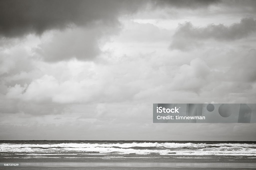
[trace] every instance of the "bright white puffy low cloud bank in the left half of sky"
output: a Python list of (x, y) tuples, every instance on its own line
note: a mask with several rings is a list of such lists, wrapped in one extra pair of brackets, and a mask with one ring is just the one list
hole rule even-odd
[(97, 94), (97, 88), (94, 86), (92, 89), (91, 83), (87, 80), (59, 82), (53, 76), (44, 75), (28, 86), (21, 87), (16, 84), (14, 87), (10, 87), (6, 97), (36, 103), (88, 102), (93, 99), (93, 95)]

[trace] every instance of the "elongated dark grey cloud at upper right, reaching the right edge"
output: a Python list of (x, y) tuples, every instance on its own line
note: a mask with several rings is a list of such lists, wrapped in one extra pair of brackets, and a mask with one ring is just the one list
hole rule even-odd
[(242, 18), (240, 23), (230, 26), (210, 24), (207, 27), (195, 27), (192, 23), (180, 24), (173, 35), (171, 49), (188, 50), (200, 46), (203, 40), (234, 41), (248, 37), (256, 31), (256, 20)]

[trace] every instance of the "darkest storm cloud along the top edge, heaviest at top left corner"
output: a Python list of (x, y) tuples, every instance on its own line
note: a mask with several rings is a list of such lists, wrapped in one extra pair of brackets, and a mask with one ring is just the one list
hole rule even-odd
[(69, 24), (86, 25), (92, 21), (118, 23), (120, 14), (131, 14), (148, 3), (153, 6), (198, 8), (217, 1), (128, 1), (128, 0), (1, 0), (0, 34), (15, 37), (29, 32), (41, 34)]

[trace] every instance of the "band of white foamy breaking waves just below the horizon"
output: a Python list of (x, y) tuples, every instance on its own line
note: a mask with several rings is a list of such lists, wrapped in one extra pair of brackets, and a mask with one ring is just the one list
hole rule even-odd
[[(60, 148), (58, 148), (60, 147)], [(119, 148), (116, 148), (119, 147)], [(132, 148), (144, 147), (144, 148)], [(147, 148), (150, 147), (150, 148)], [(154, 149), (155, 148), (155, 149)], [(162, 148), (161, 150), (157, 148)], [(60, 143), (60, 144), (10, 144), (1, 143), (0, 152), (16, 152), (19, 154), (151, 154), (160, 155), (256, 155), (256, 144), (248, 143)], [(96, 153), (90, 153), (96, 152)], [(98, 153), (97, 153), (98, 152)]]

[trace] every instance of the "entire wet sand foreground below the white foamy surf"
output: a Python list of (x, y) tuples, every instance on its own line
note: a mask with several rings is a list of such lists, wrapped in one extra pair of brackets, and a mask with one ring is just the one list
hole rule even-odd
[[(256, 169), (255, 157), (208, 156), (174, 158), (164, 156), (120, 158), (70, 158), (70, 159), (0, 159), (0, 169)], [(16, 167), (3, 166), (5, 163), (19, 163)]]

